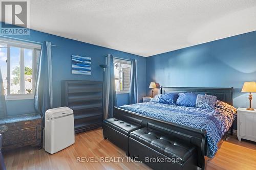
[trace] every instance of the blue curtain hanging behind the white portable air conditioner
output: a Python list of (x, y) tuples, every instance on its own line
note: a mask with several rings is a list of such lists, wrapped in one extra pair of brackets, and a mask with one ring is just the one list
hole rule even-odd
[(35, 109), (42, 115), (45, 123), (45, 112), (52, 108), (52, 57), (51, 42), (45, 41), (41, 46), (41, 54), (35, 81)]

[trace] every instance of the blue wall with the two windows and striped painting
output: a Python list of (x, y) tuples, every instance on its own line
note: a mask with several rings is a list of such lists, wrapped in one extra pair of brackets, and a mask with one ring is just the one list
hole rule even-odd
[[(80, 41), (75, 41), (47, 33), (31, 30), (30, 36), (15, 36), (31, 41), (50, 41), (57, 47), (52, 47), (53, 64), (53, 106), (60, 106), (60, 83), (62, 80), (95, 80), (103, 81), (103, 70), (99, 64), (104, 63), (104, 55), (113, 54), (115, 57), (125, 59), (137, 59), (138, 64), (138, 93), (139, 99), (145, 95), (146, 82), (146, 58), (124, 53), (110, 48), (92, 45)], [(88, 56), (92, 58), (92, 75), (71, 74), (71, 55)], [(129, 94), (118, 94), (118, 105), (128, 104)], [(34, 112), (34, 100), (7, 101), (8, 115), (24, 114)]]

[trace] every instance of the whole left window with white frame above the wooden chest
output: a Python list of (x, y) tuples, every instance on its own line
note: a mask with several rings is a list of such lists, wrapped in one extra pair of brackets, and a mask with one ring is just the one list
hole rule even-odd
[(6, 100), (33, 99), (41, 45), (0, 38), (0, 68)]

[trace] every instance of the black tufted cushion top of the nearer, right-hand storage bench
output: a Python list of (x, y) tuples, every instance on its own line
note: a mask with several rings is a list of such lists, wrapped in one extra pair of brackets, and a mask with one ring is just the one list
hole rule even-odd
[(181, 164), (196, 152), (193, 144), (149, 128), (135, 130), (129, 136), (169, 158), (178, 158)]

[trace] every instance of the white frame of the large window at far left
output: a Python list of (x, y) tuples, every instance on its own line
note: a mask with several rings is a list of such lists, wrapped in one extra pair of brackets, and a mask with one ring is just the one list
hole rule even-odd
[[(34, 90), (35, 90), (35, 81), (33, 81), (32, 87), (33, 91), (31, 94), (11, 94), (10, 93), (10, 80), (11, 80), (11, 53), (10, 53), (10, 47), (18, 47), (19, 50), (19, 67), (25, 69), (25, 63), (24, 63), (24, 48), (33, 50), (32, 51), (32, 80), (36, 79), (36, 73), (37, 73), (37, 56), (36, 52), (41, 50), (41, 45), (34, 44), (34, 43), (28, 43), (23, 41), (16, 41), (6, 38), (0, 38), (0, 43), (6, 44), (7, 46), (7, 95), (5, 95), (5, 99), (8, 100), (26, 100), (26, 99), (34, 99)], [(24, 69), (21, 69), (20, 71), (20, 93), (25, 92), (25, 75), (24, 75)]]

